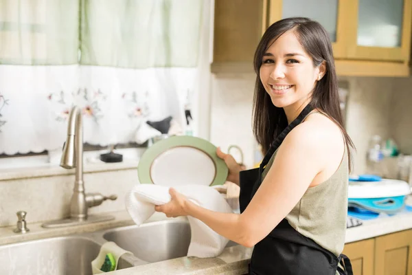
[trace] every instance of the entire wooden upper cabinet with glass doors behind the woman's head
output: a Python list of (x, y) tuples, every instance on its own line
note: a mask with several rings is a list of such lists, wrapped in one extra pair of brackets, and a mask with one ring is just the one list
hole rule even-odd
[(308, 17), (330, 35), (341, 76), (409, 76), (412, 0), (215, 0), (212, 71), (247, 71), (269, 25)]

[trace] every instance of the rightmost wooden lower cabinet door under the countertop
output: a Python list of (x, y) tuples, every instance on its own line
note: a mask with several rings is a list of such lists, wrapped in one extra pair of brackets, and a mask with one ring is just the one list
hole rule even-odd
[(376, 238), (375, 274), (412, 275), (412, 230)]

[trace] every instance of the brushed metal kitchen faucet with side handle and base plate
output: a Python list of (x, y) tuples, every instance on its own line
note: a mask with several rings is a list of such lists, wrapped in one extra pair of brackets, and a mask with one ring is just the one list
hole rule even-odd
[(48, 221), (43, 223), (43, 227), (62, 227), (69, 225), (78, 225), (80, 223), (92, 223), (97, 221), (108, 221), (114, 217), (92, 216), (87, 214), (87, 210), (93, 206), (99, 206), (106, 199), (115, 200), (116, 195), (105, 197), (100, 193), (84, 192), (83, 181), (83, 124), (82, 110), (79, 107), (73, 107), (69, 115), (69, 124), (67, 126), (67, 139), (63, 145), (62, 158), (60, 159), (62, 168), (76, 168), (76, 178), (74, 181), (73, 195), (70, 203), (70, 218), (57, 221)]

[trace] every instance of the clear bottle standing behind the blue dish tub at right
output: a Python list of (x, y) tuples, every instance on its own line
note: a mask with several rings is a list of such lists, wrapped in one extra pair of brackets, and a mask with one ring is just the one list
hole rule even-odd
[(382, 138), (379, 135), (373, 135), (369, 140), (366, 158), (366, 173), (371, 175), (383, 176), (382, 159)]

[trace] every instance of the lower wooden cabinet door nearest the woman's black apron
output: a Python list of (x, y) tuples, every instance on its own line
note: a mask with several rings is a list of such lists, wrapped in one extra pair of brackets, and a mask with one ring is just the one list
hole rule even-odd
[(374, 239), (347, 243), (343, 249), (352, 263), (354, 275), (373, 275), (374, 274)]

